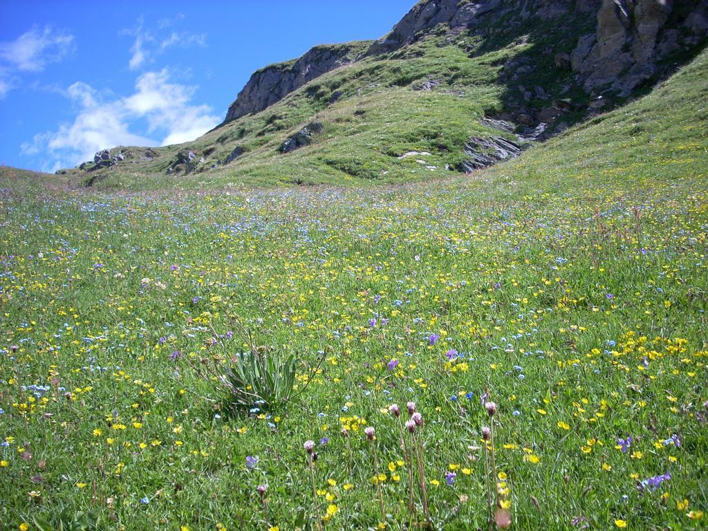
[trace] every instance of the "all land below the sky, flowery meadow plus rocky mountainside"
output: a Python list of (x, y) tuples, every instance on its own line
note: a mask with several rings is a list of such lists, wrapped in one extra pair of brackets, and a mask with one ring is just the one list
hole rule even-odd
[(0, 169), (0, 530), (707, 528), (708, 1), (401, 16)]

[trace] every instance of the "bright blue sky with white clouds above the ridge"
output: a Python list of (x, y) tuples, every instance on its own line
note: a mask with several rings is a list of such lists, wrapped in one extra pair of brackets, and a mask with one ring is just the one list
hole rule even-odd
[(256, 69), (375, 39), (415, 0), (2, 0), (0, 164), (55, 171), (117, 145), (185, 142)]

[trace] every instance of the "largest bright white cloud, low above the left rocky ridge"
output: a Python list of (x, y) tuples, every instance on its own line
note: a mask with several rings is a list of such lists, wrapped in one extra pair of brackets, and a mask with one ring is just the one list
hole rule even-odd
[[(195, 87), (170, 83), (169, 71), (147, 72), (135, 83), (135, 93), (104, 101), (91, 86), (69, 86), (67, 97), (78, 108), (71, 124), (55, 132), (35, 135), (25, 142), (23, 154), (47, 152), (52, 170), (76, 166), (93, 154), (115, 146), (156, 146), (188, 142), (215, 127), (221, 120), (208, 105), (192, 105)], [(146, 120), (149, 137), (137, 135), (136, 122)]]

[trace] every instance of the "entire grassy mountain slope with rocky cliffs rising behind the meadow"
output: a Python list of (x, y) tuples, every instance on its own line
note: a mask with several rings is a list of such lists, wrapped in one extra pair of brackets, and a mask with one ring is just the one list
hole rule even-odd
[(382, 40), (256, 72), (194, 142), (115, 148), (68, 173), (101, 188), (438, 178), (646, 93), (701, 49), (707, 6), (421, 1)]

